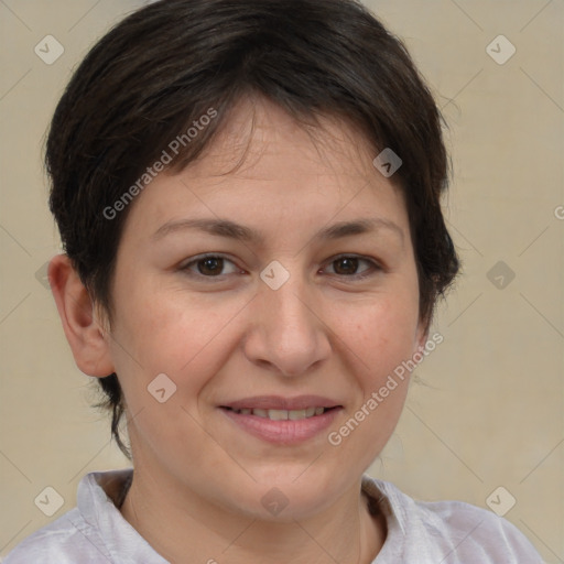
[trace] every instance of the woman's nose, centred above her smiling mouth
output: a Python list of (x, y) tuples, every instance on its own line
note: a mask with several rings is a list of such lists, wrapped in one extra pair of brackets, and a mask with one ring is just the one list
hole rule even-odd
[(278, 290), (260, 283), (243, 347), (251, 362), (295, 377), (329, 357), (330, 333), (322, 303), (306, 284), (297, 276), (290, 276)]

